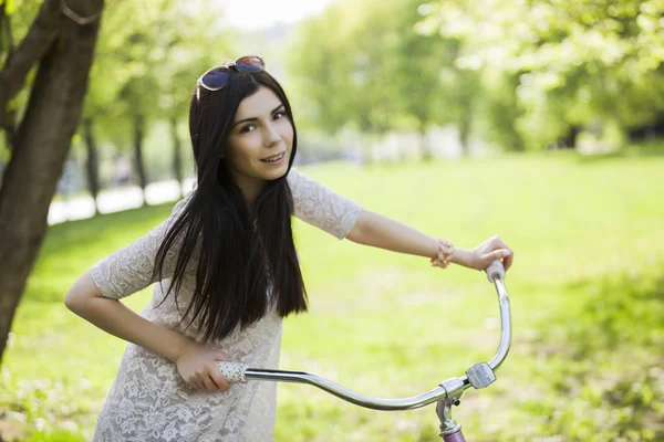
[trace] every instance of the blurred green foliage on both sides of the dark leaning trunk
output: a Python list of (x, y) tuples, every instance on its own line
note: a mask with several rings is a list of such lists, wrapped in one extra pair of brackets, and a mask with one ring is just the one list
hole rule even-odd
[[(24, 0), (6, 3), (11, 7), (11, 11), (6, 12), (11, 14), (13, 46), (25, 36), (41, 3)], [(106, 160), (118, 151), (131, 151), (136, 122), (144, 123), (145, 136), (158, 122), (169, 124), (175, 120), (181, 126), (198, 75), (231, 53), (231, 33), (219, 27), (222, 10), (214, 0), (106, 3), (82, 119), (92, 123), (102, 175)], [(0, 64), (9, 55), (6, 31), (2, 27)], [(27, 106), (34, 72), (28, 75), (23, 90), (9, 103), (12, 119), (17, 122)], [(170, 154), (173, 143), (169, 136), (157, 138), (160, 143), (152, 152), (149, 147), (145, 149), (145, 157), (148, 160), (151, 156), (159, 157), (158, 170), (151, 170), (154, 173), (148, 175), (163, 176), (162, 164), (168, 159), (164, 146), (168, 146)], [(72, 144), (72, 156), (85, 158), (80, 135), (74, 136)], [(0, 155), (9, 155), (1, 147)], [(170, 164), (167, 169), (170, 172)]]

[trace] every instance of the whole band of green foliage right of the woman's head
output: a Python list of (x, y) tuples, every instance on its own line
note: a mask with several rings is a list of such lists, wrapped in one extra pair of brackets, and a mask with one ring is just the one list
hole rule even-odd
[(300, 27), (288, 65), (308, 124), (329, 133), (453, 123), (463, 144), (474, 131), (541, 149), (590, 125), (661, 120), (662, 12), (636, 0), (340, 1)]

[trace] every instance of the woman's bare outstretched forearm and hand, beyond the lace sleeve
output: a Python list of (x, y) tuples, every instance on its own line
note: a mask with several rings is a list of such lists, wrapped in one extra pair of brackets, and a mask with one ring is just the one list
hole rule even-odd
[[(439, 256), (438, 239), (366, 209), (362, 209), (346, 239), (398, 253), (428, 259)], [(507, 270), (512, 259), (513, 252), (498, 236), (488, 239), (473, 250), (452, 246), (447, 257), (449, 262), (477, 270), (486, 269), (495, 260), (502, 260)]]

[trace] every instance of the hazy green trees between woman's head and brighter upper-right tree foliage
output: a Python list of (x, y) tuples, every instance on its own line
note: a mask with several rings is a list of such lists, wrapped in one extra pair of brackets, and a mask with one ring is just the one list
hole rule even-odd
[(445, 77), (442, 69), (452, 64), (457, 44), (418, 33), (418, 6), (341, 1), (302, 23), (288, 66), (307, 97), (310, 124), (330, 133), (350, 126), (382, 134), (466, 117), (474, 77), (454, 70), (453, 80)]

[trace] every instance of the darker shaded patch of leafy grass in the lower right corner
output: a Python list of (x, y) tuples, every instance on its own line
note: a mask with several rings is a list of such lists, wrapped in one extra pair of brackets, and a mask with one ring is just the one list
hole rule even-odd
[(584, 299), (542, 337), (556, 351), (544, 357), (541, 394), (521, 404), (539, 420), (537, 433), (664, 440), (664, 273), (614, 274), (569, 290)]

